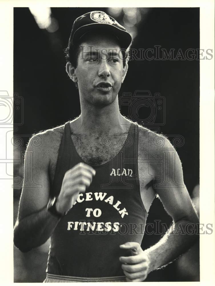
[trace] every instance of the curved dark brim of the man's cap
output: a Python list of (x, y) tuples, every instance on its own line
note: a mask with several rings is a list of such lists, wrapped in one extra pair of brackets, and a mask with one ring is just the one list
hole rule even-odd
[[(82, 26), (79, 29), (77, 29), (73, 35), (73, 43), (76, 43), (77, 41), (79, 41), (79, 39), (81, 39), (81, 37), (85, 33), (89, 31), (94, 31), (96, 29), (110, 31), (112, 35), (115, 35), (118, 38), (122, 49), (127, 49), (131, 44), (132, 37), (127, 31), (123, 31), (111, 24), (102, 24), (102, 23), (92, 23), (92, 24), (88, 24), (88, 25)], [(70, 38), (69, 42), (71, 40), (72, 39)]]

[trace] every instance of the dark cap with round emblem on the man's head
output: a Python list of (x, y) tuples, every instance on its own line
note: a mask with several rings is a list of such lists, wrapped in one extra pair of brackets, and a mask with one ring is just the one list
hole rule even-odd
[(75, 44), (83, 35), (95, 29), (109, 31), (115, 35), (123, 49), (127, 49), (131, 44), (132, 37), (126, 29), (103, 11), (92, 11), (75, 19), (69, 43)]

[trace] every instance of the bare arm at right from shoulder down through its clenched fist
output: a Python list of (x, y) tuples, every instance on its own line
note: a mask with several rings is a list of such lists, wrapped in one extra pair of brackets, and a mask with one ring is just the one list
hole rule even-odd
[[(120, 245), (120, 248), (131, 249), (133, 252), (132, 256), (120, 257), (127, 281), (144, 281), (148, 273), (172, 262), (188, 250), (198, 238), (199, 219), (184, 185), (180, 159), (170, 142), (166, 138), (163, 138), (163, 140), (165, 141), (164, 147), (167, 148), (166, 153), (169, 151), (173, 153), (174, 159), (170, 160), (169, 163), (167, 160), (165, 168), (162, 168), (162, 164), (156, 164), (156, 174), (160, 174), (160, 180), (154, 181), (157, 184), (154, 189), (167, 213), (172, 217), (174, 225), (170, 227), (156, 245), (145, 251), (135, 242)], [(158, 154), (160, 151), (157, 150), (155, 158), (156, 156), (159, 159), (162, 157)], [(170, 166), (171, 164), (173, 165)], [(159, 183), (163, 184), (158, 186)], [(189, 233), (186, 228), (188, 224), (193, 224), (193, 231), (188, 228)], [(179, 227), (181, 231), (178, 229)], [(177, 229), (178, 232), (176, 232)], [(176, 234), (173, 234), (173, 232), (176, 232)]]

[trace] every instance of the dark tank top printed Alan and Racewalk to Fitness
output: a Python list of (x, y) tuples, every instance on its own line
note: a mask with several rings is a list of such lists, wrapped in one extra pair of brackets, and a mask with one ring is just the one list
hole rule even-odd
[[(121, 136), (121, 135), (120, 135)], [(120, 249), (126, 242), (141, 244), (147, 212), (138, 178), (138, 125), (131, 123), (120, 149), (111, 147), (111, 160), (91, 165), (96, 174), (84, 194), (61, 218), (50, 237), (47, 273), (75, 277), (123, 276)], [(102, 138), (111, 146), (111, 136)], [(64, 125), (50, 196), (58, 196), (64, 174), (79, 162), (70, 122)]]

